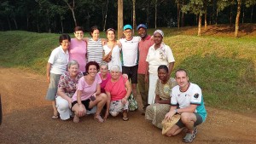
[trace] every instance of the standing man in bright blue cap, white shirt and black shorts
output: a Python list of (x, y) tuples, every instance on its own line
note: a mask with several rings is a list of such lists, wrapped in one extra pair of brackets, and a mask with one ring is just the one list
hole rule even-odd
[(119, 39), (122, 44), (122, 72), (131, 79), (132, 95), (137, 98), (138, 43), (141, 37), (133, 37), (131, 25), (124, 26), (124, 35), (124, 38)]

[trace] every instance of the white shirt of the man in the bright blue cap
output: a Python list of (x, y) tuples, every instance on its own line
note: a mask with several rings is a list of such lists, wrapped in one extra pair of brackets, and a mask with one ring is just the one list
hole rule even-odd
[(119, 42), (122, 44), (122, 66), (136, 66), (138, 64), (138, 43), (140, 40), (141, 37), (132, 37), (130, 41), (125, 38), (119, 39)]

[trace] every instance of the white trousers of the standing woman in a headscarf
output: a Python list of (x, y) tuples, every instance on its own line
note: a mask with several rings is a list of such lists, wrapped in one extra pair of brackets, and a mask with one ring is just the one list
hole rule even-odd
[(158, 79), (157, 74), (149, 73), (149, 89), (148, 89), (148, 104), (149, 105), (154, 104), (154, 99), (155, 99), (154, 91), (155, 91), (157, 79)]

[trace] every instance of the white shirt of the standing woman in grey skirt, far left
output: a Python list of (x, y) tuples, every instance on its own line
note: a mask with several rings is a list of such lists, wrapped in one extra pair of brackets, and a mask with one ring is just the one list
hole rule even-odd
[(61, 45), (55, 48), (50, 56), (48, 62), (51, 64), (50, 72), (54, 74), (63, 74), (67, 71), (67, 63), (69, 60), (68, 50), (64, 52)]

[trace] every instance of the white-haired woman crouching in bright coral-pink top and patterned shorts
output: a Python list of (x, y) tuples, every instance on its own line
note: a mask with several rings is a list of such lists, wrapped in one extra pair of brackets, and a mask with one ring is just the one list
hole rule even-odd
[(112, 66), (110, 68), (111, 79), (108, 81), (105, 90), (108, 96), (107, 111), (105, 119), (108, 118), (108, 113), (116, 117), (119, 112), (123, 113), (123, 120), (127, 121), (128, 118), (128, 105), (127, 101), (131, 95), (131, 85), (127, 78), (122, 77), (119, 66)]

